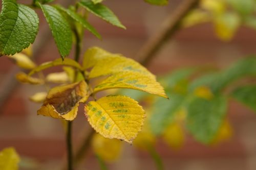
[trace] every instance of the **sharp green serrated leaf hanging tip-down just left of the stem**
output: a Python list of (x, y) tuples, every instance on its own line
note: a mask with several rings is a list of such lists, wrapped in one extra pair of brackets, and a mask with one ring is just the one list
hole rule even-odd
[(61, 57), (66, 57), (72, 47), (72, 32), (68, 21), (54, 7), (41, 4), (39, 6), (49, 23)]

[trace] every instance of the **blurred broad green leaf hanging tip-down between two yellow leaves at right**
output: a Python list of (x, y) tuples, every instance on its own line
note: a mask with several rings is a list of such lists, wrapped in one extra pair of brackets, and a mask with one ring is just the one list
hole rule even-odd
[(227, 101), (221, 95), (211, 100), (195, 97), (189, 102), (187, 112), (187, 129), (198, 141), (209, 144), (226, 116)]

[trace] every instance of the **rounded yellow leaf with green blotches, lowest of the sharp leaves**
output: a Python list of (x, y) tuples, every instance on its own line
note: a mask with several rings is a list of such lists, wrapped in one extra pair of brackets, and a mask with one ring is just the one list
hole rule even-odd
[(145, 119), (145, 111), (138, 102), (121, 95), (109, 95), (89, 102), (84, 109), (96, 132), (129, 143), (141, 131)]

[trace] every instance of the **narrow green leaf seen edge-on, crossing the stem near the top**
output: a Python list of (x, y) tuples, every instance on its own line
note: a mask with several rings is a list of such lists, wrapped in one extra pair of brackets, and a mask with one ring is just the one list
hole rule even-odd
[(97, 38), (101, 39), (100, 34), (96, 31), (96, 29), (82, 16), (74, 12), (72, 9), (65, 9), (61, 6), (56, 6), (57, 9), (66, 12), (70, 17), (72, 17), (75, 21), (79, 22), (84, 28), (90, 31)]

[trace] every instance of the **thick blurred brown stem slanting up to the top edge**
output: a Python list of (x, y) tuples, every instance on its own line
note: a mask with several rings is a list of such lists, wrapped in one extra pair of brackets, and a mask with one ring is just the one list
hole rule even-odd
[(156, 53), (159, 52), (163, 44), (169, 40), (180, 28), (182, 18), (197, 4), (199, 0), (183, 0), (174, 12), (165, 19), (159, 31), (142, 46), (136, 59), (142, 65), (148, 65)]

